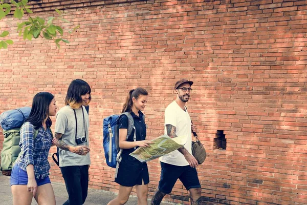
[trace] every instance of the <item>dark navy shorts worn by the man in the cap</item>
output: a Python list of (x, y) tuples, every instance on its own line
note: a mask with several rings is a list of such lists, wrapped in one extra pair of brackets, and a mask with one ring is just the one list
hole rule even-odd
[(169, 194), (179, 179), (187, 189), (201, 188), (198, 174), (195, 168), (188, 166), (176, 166), (161, 161), (161, 176), (159, 190)]

